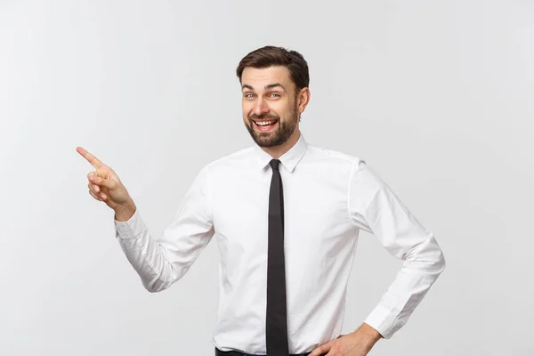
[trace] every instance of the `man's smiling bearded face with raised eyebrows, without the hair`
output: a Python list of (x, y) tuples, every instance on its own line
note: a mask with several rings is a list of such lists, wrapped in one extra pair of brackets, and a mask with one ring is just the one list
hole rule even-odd
[(241, 92), (243, 121), (258, 146), (279, 146), (298, 133), (299, 93), (286, 67), (246, 68)]

